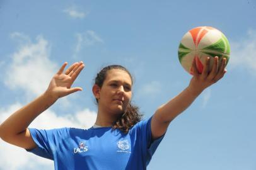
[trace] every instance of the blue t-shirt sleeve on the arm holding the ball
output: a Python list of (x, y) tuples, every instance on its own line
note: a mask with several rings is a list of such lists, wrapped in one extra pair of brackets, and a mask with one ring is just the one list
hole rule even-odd
[(139, 136), (139, 139), (141, 140), (141, 145), (143, 152), (146, 154), (146, 164), (149, 164), (149, 161), (151, 160), (151, 157), (153, 156), (154, 152), (156, 151), (158, 145), (160, 144), (161, 140), (163, 140), (163, 137), (165, 136), (165, 133), (159, 137), (158, 139), (153, 140), (152, 139), (152, 133), (151, 133), (151, 116), (150, 118), (143, 120), (139, 123), (137, 123), (134, 128), (136, 128), (136, 133)]

